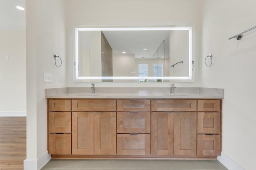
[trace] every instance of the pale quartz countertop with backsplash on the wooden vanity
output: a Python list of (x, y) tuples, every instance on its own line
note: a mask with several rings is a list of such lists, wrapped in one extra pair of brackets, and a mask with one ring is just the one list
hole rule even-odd
[(52, 88), (46, 89), (46, 98), (56, 99), (223, 99), (219, 88)]

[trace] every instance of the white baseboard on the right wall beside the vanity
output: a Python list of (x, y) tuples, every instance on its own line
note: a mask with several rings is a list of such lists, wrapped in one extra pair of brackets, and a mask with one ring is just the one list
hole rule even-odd
[(240, 166), (223, 152), (221, 152), (220, 156), (218, 156), (218, 161), (220, 161), (220, 163), (226, 166), (226, 168), (228, 168), (229, 170), (245, 170), (244, 168), (242, 168), (242, 166)]

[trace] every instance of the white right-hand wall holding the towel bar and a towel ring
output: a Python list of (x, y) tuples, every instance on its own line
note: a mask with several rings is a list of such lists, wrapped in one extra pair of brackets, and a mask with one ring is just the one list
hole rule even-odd
[[(202, 82), (224, 88), (222, 151), (246, 170), (255, 169), (256, 29), (242, 40), (228, 38), (255, 25), (255, 0), (205, 0), (202, 32)], [(206, 67), (204, 58), (213, 56)]]

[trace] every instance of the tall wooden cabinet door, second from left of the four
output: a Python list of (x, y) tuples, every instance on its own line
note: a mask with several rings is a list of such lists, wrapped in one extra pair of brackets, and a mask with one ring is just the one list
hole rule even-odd
[(116, 112), (94, 112), (94, 154), (116, 154)]

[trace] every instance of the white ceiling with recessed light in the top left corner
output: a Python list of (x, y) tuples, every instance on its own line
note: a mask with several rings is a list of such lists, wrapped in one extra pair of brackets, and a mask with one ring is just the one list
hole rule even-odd
[(16, 6), (25, 8), (26, 0), (0, 0), (0, 30), (25, 30), (26, 9), (18, 10)]

